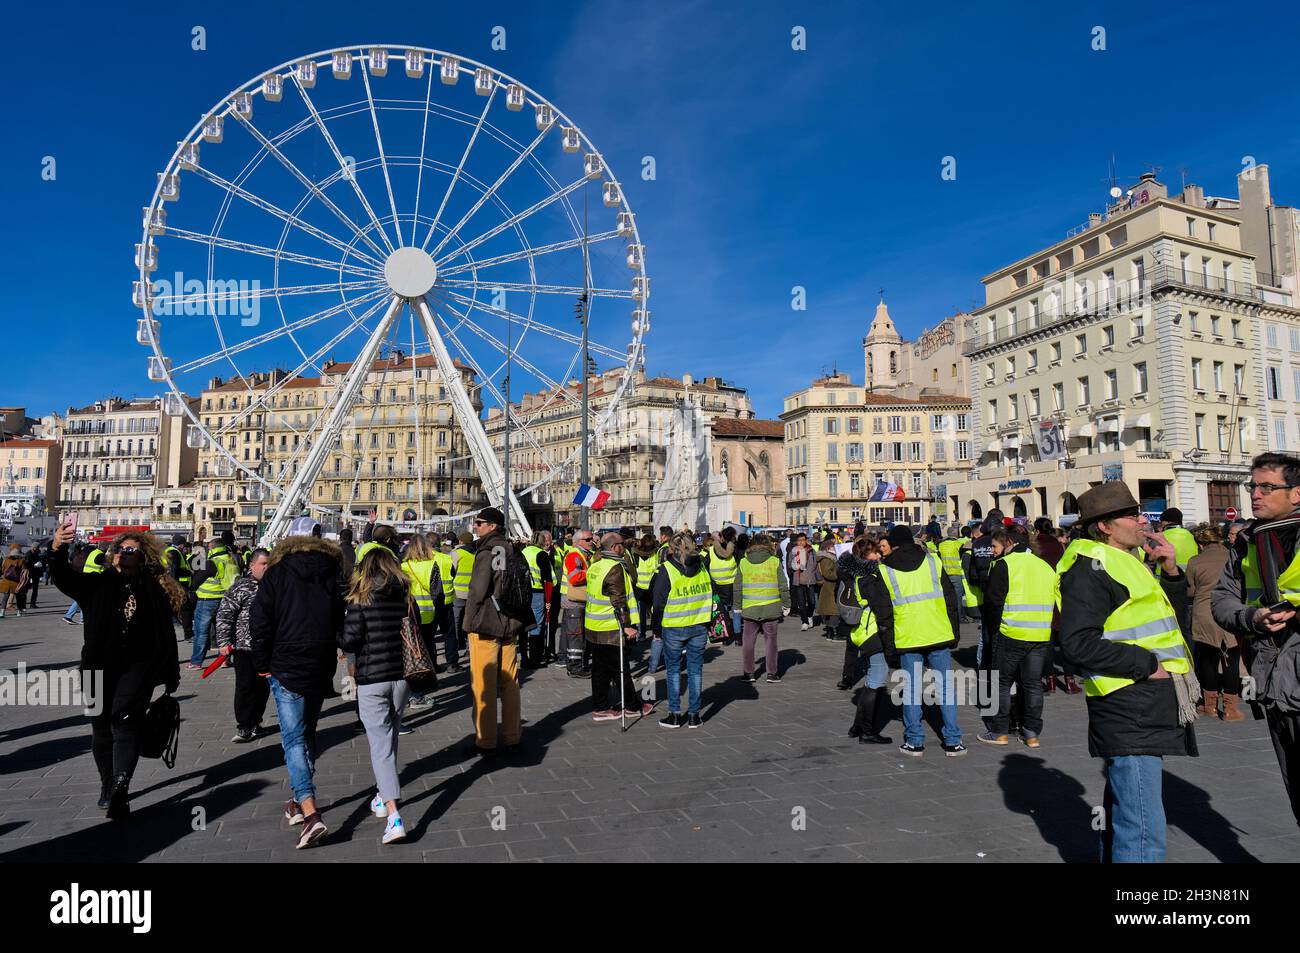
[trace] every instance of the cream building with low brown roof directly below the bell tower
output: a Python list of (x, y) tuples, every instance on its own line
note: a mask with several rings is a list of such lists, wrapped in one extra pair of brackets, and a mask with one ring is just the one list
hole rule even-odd
[[(785, 521), (946, 520), (970, 468), (970, 411), (965, 397), (883, 394), (842, 372), (788, 395)], [(887, 484), (902, 498), (871, 501)]]

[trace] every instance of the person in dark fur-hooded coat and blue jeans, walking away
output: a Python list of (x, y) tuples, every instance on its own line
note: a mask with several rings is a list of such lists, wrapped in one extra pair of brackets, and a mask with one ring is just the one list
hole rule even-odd
[(270, 677), (280, 740), (294, 797), (290, 824), (303, 824), (299, 848), (326, 833), (313, 783), (316, 723), (334, 693), (338, 637), (343, 629), (342, 553), (316, 536), (290, 536), (272, 551), (270, 566), (248, 612), (257, 672)]

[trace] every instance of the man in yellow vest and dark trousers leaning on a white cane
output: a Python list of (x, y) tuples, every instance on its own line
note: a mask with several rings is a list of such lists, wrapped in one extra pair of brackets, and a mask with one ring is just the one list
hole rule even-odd
[[(644, 718), (654, 711), (654, 703), (640, 701), (624, 651), (625, 642), (637, 637), (640, 611), (619, 533), (601, 537), (601, 555), (586, 568), (585, 590), (582, 631), (592, 646), (592, 720)], [(615, 681), (620, 683), (619, 705), (611, 705), (610, 698)]]

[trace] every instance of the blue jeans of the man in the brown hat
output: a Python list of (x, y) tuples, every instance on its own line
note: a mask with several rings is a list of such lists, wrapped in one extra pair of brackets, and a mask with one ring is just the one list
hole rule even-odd
[[(1158, 754), (1106, 758), (1106, 829), (1102, 863), (1164, 863), (1164, 759)], [(1109, 854), (1109, 855), (1108, 855)]]

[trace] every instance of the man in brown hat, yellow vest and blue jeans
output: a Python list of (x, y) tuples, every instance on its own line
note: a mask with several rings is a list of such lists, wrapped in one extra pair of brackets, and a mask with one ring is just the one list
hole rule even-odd
[[(1106, 776), (1104, 862), (1165, 859), (1162, 757), (1196, 754), (1197, 692), (1186, 618), (1187, 577), (1174, 547), (1148, 530), (1128, 486), (1110, 481), (1079, 497), (1083, 536), (1057, 563), (1061, 651), (1083, 672), (1088, 753)], [(1132, 551), (1160, 566), (1152, 577)]]

